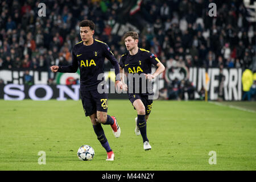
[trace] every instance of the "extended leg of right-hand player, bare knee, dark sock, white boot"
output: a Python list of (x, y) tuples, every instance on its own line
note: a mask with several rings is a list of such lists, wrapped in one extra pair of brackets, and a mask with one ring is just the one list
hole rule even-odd
[[(133, 102), (133, 106), (137, 110), (137, 127), (139, 127), (139, 131), (141, 132), (142, 139), (143, 139), (143, 148), (144, 150), (151, 150), (151, 146), (147, 139), (147, 123), (146, 123), (146, 113), (145, 113), (145, 107), (143, 105), (143, 102), (140, 99), (137, 99)], [(147, 117), (148, 118), (148, 117)]]

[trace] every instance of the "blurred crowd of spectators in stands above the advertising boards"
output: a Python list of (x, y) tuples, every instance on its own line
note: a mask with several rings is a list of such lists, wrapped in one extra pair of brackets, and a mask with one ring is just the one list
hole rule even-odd
[[(216, 17), (208, 15), (211, 2), (217, 4)], [(46, 4), (45, 17), (38, 16), (39, 3)], [(70, 64), (72, 46), (80, 42), (78, 23), (84, 19), (96, 23), (96, 38), (108, 43), (118, 60), (125, 52), (121, 36), (112, 34), (122, 0), (0, 0), (0, 4), (0, 69), (49, 72), (50, 65)], [(144, 0), (136, 14), (146, 22), (139, 47), (157, 55), (166, 68), (256, 71), (256, 28), (246, 20), (243, 1)], [(182, 89), (184, 83), (172, 85)]]

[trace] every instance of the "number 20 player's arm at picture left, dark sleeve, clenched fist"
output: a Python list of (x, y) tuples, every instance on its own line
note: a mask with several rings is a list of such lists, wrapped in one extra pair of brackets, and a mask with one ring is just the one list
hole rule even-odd
[(78, 68), (78, 62), (76, 59), (75, 53), (72, 51), (72, 64), (68, 66), (58, 66), (58, 65), (53, 65), (51, 66), (51, 71), (56, 73), (56, 72), (61, 72), (61, 73), (76, 73), (77, 68)]

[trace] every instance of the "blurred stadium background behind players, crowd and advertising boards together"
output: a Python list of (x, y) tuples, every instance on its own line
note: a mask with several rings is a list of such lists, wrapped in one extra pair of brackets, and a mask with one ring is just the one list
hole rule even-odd
[[(209, 15), (210, 3), (216, 4), (216, 16)], [(123, 33), (139, 32), (139, 47), (166, 66), (155, 83), (159, 99), (205, 100), (208, 93), (207, 100), (255, 101), (255, 1), (0, 0), (0, 4), (2, 99), (77, 100), (79, 71), (53, 74), (49, 67), (71, 64), (72, 46), (81, 41), (78, 23), (90, 19), (96, 23), (95, 38), (108, 43), (118, 60), (126, 52)], [(112, 78), (110, 68), (105, 60), (106, 76)], [(75, 91), (67, 94), (56, 85)]]

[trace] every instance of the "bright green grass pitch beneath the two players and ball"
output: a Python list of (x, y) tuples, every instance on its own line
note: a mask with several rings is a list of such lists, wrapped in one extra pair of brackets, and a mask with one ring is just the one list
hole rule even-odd
[[(115, 154), (114, 162), (107, 162), (81, 101), (0, 100), (0, 170), (255, 170), (256, 105), (247, 106), (254, 111), (204, 101), (154, 101), (147, 123), (152, 150), (144, 151), (130, 101), (109, 100), (108, 114), (117, 117), (121, 137), (103, 126)], [(77, 158), (83, 144), (94, 148), (90, 162)], [(38, 164), (39, 151), (46, 152), (46, 164)], [(217, 164), (209, 164), (210, 151)]]

